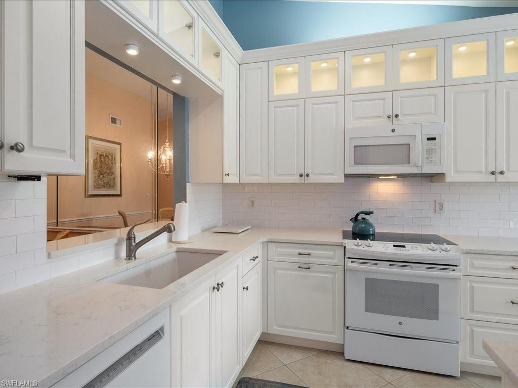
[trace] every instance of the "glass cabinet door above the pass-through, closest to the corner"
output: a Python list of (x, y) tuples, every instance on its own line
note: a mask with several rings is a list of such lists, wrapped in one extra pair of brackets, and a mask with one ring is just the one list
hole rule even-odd
[(221, 86), (222, 45), (201, 19), (199, 24), (199, 68)]

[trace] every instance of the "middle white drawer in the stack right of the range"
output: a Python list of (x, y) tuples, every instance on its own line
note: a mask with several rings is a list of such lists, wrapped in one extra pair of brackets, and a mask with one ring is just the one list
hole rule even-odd
[(518, 324), (518, 280), (463, 276), (462, 318)]

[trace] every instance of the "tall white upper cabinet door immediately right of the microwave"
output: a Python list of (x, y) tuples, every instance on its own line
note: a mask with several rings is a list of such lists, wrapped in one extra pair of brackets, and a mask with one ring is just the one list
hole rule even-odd
[(446, 182), (495, 182), (495, 84), (445, 88)]

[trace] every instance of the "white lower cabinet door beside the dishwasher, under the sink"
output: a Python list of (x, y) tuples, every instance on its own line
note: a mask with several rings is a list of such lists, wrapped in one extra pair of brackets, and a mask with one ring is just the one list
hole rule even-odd
[(173, 387), (216, 386), (216, 325), (211, 277), (171, 306)]

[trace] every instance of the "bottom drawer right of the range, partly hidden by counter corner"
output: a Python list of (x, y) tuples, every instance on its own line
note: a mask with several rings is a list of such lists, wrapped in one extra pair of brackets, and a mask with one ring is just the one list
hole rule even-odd
[(461, 362), (496, 366), (482, 349), (482, 340), (518, 342), (518, 326), (462, 320)]

